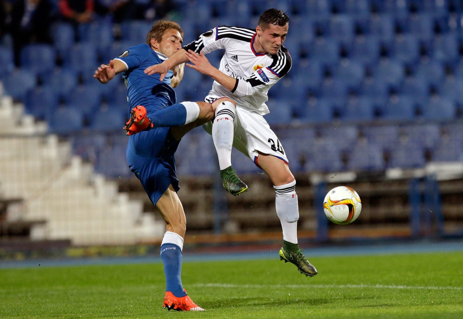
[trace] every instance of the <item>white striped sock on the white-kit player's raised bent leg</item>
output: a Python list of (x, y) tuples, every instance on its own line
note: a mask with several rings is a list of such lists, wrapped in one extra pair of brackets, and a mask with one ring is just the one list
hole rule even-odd
[(220, 169), (232, 165), (233, 121), (235, 120), (235, 106), (232, 102), (222, 102), (215, 110), (212, 124), (212, 139), (219, 157)]

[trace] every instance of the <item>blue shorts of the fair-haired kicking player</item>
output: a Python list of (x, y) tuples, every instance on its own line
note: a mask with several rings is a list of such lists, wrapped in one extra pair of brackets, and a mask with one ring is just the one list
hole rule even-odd
[(175, 151), (179, 142), (172, 136), (169, 127), (141, 131), (129, 137), (127, 163), (153, 205), (170, 184), (175, 192), (180, 189), (175, 169)]

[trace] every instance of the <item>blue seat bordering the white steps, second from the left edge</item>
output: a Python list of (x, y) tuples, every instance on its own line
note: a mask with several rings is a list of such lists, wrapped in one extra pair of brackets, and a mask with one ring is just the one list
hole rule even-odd
[(25, 110), (38, 119), (45, 119), (58, 106), (58, 97), (47, 87), (36, 87), (29, 91), (25, 101)]

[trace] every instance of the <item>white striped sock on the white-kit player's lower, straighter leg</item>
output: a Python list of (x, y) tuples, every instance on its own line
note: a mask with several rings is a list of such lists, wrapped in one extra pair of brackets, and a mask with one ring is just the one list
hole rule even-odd
[(283, 240), (297, 244), (297, 220), (299, 206), (296, 195), (296, 181), (289, 184), (274, 186), (276, 214), (282, 223)]

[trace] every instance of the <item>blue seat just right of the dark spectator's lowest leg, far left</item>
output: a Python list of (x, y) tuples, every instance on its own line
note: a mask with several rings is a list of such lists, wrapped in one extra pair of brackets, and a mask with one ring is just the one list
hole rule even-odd
[(55, 68), (56, 52), (48, 44), (28, 44), (21, 50), (21, 66), (46, 76)]

